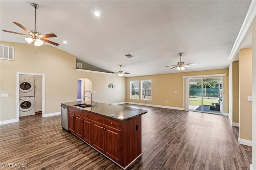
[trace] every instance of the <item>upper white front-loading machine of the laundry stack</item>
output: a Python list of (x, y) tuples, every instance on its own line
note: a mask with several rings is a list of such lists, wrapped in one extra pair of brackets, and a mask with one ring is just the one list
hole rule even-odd
[(34, 75), (20, 75), (20, 96), (35, 96)]

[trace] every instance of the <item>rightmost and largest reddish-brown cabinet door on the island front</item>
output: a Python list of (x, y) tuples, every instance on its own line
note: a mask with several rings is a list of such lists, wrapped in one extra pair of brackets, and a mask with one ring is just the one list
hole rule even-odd
[(105, 126), (105, 154), (117, 163), (121, 160), (121, 130)]

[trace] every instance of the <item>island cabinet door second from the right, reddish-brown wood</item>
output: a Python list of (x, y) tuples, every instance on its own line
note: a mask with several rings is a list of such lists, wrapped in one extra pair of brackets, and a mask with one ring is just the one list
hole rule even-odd
[[(92, 146), (98, 149), (100, 152), (104, 151), (104, 125), (95, 121), (92, 121)], [(103, 152), (104, 153), (104, 152)]]

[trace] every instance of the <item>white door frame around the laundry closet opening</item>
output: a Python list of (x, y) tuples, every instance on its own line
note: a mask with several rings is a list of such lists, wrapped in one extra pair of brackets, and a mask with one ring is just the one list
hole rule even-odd
[(20, 121), (20, 102), (19, 102), (19, 97), (20, 97), (20, 75), (40, 75), (42, 76), (42, 117), (44, 117), (45, 114), (45, 75), (44, 74), (37, 74), (37, 73), (21, 73), (21, 72), (17, 72), (16, 73), (16, 120), (17, 122)]

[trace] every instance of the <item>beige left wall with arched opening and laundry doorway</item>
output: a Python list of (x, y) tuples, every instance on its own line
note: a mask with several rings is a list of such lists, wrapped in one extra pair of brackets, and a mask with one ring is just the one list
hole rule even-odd
[[(49, 45), (1, 42), (15, 48), (15, 61), (0, 60), (0, 121), (16, 119), (16, 74), (45, 75), (45, 114), (60, 112), (60, 103), (76, 101), (77, 80), (92, 81), (93, 100), (104, 103), (125, 101), (125, 77), (76, 71), (76, 57)], [(109, 89), (108, 84), (115, 88)], [(105, 102), (106, 100), (106, 102)]]

